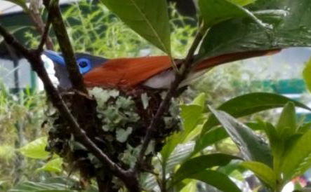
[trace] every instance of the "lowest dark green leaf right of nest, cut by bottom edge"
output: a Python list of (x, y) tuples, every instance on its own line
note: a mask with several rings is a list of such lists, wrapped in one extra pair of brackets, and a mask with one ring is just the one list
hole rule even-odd
[(206, 184), (218, 188), (224, 192), (241, 192), (241, 190), (234, 184), (227, 175), (214, 170), (204, 170), (197, 174), (192, 174), (190, 179), (197, 179)]

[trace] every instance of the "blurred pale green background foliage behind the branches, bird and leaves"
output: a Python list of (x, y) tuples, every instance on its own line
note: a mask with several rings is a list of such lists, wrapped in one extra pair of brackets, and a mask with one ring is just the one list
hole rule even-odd
[[(193, 36), (197, 32), (196, 20), (180, 15), (173, 4), (170, 6), (170, 16), (172, 54), (176, 58), (185, 57), (193, 41)], [(73, 6), (67, 8), (63, 12), (63, 17), (67, 25), (67, 32), (71, 37), (72, 46), (78, 53), (86, 52), (108, 58), (164, 54), (138, 34), (135, 34), (102, 4), (94, 5), (90, 1), (79, 1), (79, 3), (74, 3)], [(25, 37), (28, 39), (27, 44), (29, 46), (38, 45), (39, 36), (32, 32), (25, 32)], [(53, 39), (53, 43), (55, 50), (59, 50), (56, 39)], [(267, 66), (268, 64), (263, 63), (262, 65)], [(262, 69), (265, 70), (265, 67)], [(271, 88), (263, 84), (254, 84), (250, 81), (258, 74), (258, 71), (249, 71), (241, 67), (240, 62), (227, 64), (225, 67), (216, 67), (203, 78), (200, 78), (199, 81), (194, 81), (181, 97), (180, 103), (191, 102), (200, 92), (205, 93), (204, 97), (206, 97), (207, 103), (213, 107), (218, 107), (230, 98), (248, 92), (273, 92)], [(264, 74), (264, 71), (261, 71), (260, 74)], [(246, 81), (241, 81), (242, 79), (246, 79)], [(46, 135), (47, 129), (44, 127), (49, 125), (44, 123), (44, 116), (46, 115), (44, 92), (26, 89), (12, 94), (3, 84), (1, 84), (0, 91), (0, 191), (8, 191), (9, 188), (21, 181), (48, 181), (51, 184), (53, 182), (48, 180), (51, 177), (63, 176), (64, 174), (67, 177), (70, 173), (65, 171), (37, 171), (34, 173), (34, 170), (45, 165), (46, 158), (25, 158), (18, 150), (25, 144)], [(278, 115), (271, 111), (265, 111), (242, 120), (252, 121), (263, 118), (275, 122)], [(206, 150), (230, 154), (238, 153), (237, 146), (231, 139), (216, 142)], [(234, 167), (234, 163), (230, 166)], [(241, 172), (234, 170), (236, 166), (234, 168), (230, 166), (223, 168), (223, 170), (220, 168), (220, 171), (230, 174), (238, 182), (243, 176)], [(70, 176), (70, 179), (72, 182), (78, 181), (74, 174)], [(66, 184), (61, 179), (58, 180), (58, 184), (60, 183)], [(196, 186), (197, 182), (190, 182), (183, 188), (183, 191), (187, 191), (187, 187)], [(211, 191), (215, 189), (211, 189), (211, 186), (202, 183), (198, 190)]]

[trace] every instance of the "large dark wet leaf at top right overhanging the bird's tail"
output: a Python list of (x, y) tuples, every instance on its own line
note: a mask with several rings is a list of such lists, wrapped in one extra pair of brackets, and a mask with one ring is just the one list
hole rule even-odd
[(199, 50), (201, 59), (225, 53), (311, 46), (310, 0), (258, 0), (248, 8), (273, 27), (269, 35), (249, 18), (221, 22), (205, 36)]

